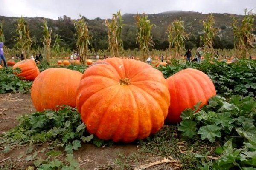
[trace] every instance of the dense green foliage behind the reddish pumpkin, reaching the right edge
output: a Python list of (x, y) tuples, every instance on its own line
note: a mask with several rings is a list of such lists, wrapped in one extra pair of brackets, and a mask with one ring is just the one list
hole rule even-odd
[(256, 96), (256, 61), (238, 60), (234, 63), (226, 62), (210, 63), (204, 61), (201, 64), (189, 65), (177, 64), (174, 66), (158, 67), (165, 78), (185, 68), (195, 68), (207, 74), (215, 85), (217, 93), (221, 96), (239, 94), (242, 96)]

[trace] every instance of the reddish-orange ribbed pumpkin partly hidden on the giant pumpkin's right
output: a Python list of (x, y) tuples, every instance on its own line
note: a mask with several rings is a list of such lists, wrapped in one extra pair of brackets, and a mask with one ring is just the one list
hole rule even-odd
[(186, 108), (194, 108), (198, 102), (200, 107), (208, 103), (210, 97), (216, 95), (212, 80), (202, 71), (187, 68), (166, 79), (171, 95), (167, 123), (179, 123), (180, 114)]

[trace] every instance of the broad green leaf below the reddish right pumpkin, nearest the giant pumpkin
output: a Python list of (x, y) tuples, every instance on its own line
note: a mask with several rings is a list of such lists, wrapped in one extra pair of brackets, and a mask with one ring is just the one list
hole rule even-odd
[(182, 136), (192, 138), (196, 135), (196, 123), (192, 120), (183, 120), (180, 122), (178, 130), (182, 132)]

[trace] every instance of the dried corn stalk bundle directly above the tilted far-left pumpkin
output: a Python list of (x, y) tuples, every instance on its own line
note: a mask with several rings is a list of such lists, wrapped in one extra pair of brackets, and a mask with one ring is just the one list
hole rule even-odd
[(17, 42), (16, 46), (24, 54), (24, 59), (27, 59), (30, 53), (30, 48), (32, 45), (32, 40), (30, 38), (29, 26), (26, 20), (21, 16), (18, 19), (18, 24), (16, 28), (16, 33), (18, 36), (14, 36), (14, 40)]

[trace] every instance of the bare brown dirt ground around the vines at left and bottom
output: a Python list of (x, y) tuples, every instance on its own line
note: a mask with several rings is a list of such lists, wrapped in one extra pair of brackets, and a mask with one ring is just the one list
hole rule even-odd
[[(30, 94), (0, 94), (0, 134), (5, 133), (15, 127), (17, 117), (35, 112)], [(0, 141), (1, 142), (1, 141)], [(0, 146), (1, 147), (1, 146)], [(15, 165), (13, 170), (23, 170), (33, 165), (33, 161), (26, 161), (26, 149), (28, 146), (20, 146), (12, 149), (9, 153), (3, 154), (0, 150), (0, 162), (6, 158), (6, 161), (0, 163), (0, 169), (4, 164)], [(38, 156), (47, 158), (40, 150), (47, 148), (47, 143), (35, 146)], [(59, 148), (63, 151), (63, 148)], [(23, 156), (22, 156), (23, 155)], [(83, 144), (74, 156), (80, 164), (82, 170), (126, 170), (134, 169), (137, 166), (163, 160), (160, 156), (152, 156), (137, 151), (137, 144), (113, 144), (111, 147), (96, 147), (93, 144)], [(21, 157), (21, 158), (20, 158)], [(64, 160), (61, 155), (58, 159)], [(7, 169), (7, 170), (11, 170)], [(171, 170), (168, 164), (161, 164), (149, 168), (150, 170)], [(6, 170), (6, 169), (5, 169)]]

